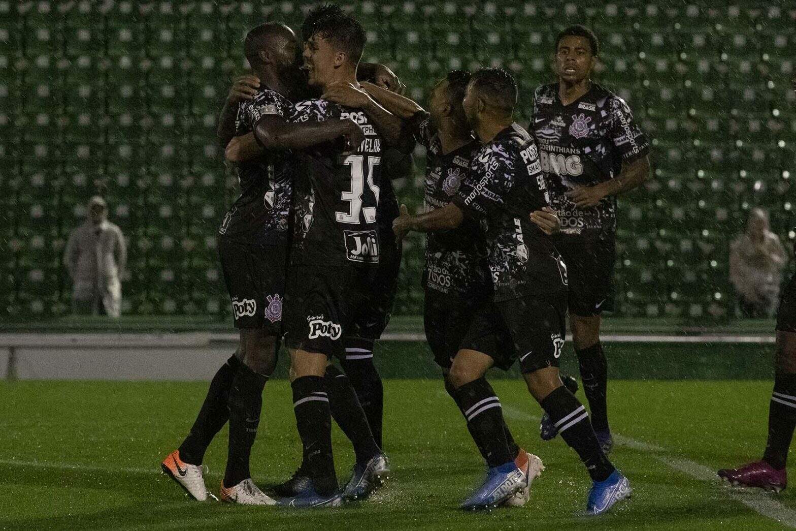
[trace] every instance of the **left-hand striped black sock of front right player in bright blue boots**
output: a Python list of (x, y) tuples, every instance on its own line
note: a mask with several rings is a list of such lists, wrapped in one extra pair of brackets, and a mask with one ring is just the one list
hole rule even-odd
[(456, 403), (470, 428), (476, 446), (490, 468), (513, 461), (517, 454), (509, 450), (500, 399), (484, 378), (456, 389)]

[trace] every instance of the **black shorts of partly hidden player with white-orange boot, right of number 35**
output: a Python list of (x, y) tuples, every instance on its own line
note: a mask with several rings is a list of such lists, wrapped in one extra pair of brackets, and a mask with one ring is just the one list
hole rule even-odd
[(451, 368), (462, 340), (470, 330), (478, 305), (486, 297), (466, 297), (459, 293), (439, 293), (426, 289), (423, 304), (423, 326), (434, 362), (443, 369)]

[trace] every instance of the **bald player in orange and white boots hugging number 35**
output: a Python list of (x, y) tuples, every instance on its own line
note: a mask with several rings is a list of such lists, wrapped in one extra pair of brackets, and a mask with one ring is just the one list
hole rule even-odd
[[(249, 456), (256, 438), (263, 387), (276, 364), (282, 334), (282, 306), (287, 266), (288, 215), (295, 159), (287, 148), (310, 140), (361, 139), (351, 120), (328, 124), (290, 124), (295, 89), (297, 42), (287, 26), (267, 23), (251, 30), (244, 52), (259, 90), (238, 81), (228, 106), (237, 106), (236, 134), (260, 128), (269, 132), (265, 150), (237, 167), (241, 194), (219, 229), (219, 254), (240, 344), (210, 383), (201, 411), (178, 450), (162, 470), (193, 498), (211, 497), (202, 476), (205, 450), (229, 421), (227, 467), (221, 499), (246, 505), (273, 505), (252, 482)], [(248, 96), (248, 99), (246, 99)], [(220, 127), (220, 134), (224, 128)]]

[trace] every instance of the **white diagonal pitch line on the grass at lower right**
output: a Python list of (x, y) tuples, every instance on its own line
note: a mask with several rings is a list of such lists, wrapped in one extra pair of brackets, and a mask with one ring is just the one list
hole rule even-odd
[[(503, 411), (505, 415), (511, 419), (535, 422), (540, 420), (540, 418), (536, 415), (530, 415), (529, 413), (526, 413), (517, 407), (506, 404), (503, 404)], [(662, 462), (673, 470), (677, 470), (678, 472), (691, 476), (694, 479), (698, 479), (701, 482), (710, 482), (714, 484), (720, 483), (720, 479), (716, 475), (716, 470), (712, 470), (708, 466), (701, 465), (700, 463), (693, 462), (689, 459), (673, 458), (667, 455), (660, 455), (666, 451), (666, 449), (662, 446), (644, 443), (642, 441), (630, 439), (630, 437), (617, 435), (613, 432), (611, 432), (611, 435), (613, 435), (615, 443), (633, 448), (634, 450), (650, 452), (650, 454), (652, 454), (657, 461)], [(765, 493), (763, 491), (741, 489), (721, 489), (721, 491), (728, 494), (728, 496), (733, 500), (743, 503), (743, 505), (746, 505), (749, 509), (755, 511), (755, 513), (778, 521), (782, 525), (787, 525), (790, 528), (796, 529), (796, 510), (789, 509), (785, 505), (782, 505), (782, 503), (779, 501), (771, 498), (771, 494)]]

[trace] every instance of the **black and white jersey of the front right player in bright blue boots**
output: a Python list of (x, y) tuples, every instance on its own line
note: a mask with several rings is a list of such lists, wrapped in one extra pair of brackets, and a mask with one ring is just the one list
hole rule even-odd
[(567, 268), (529, 218), (550, 203), (537, 146), (519, 124), (478, 150), (453, 201), (467, 217), (486, 219), (495, 301), (564, 293)]

